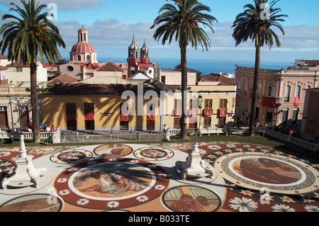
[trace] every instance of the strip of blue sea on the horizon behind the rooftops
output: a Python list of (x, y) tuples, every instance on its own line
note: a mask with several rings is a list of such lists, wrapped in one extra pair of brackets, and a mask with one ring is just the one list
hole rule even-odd
[[(100, 62), (108, 62), (109, 60), (121, 63), (126, 62), (126, 59), (120, 57), (108, 58), (108, 57), (99, 57)], [(151, 59), (151, 62), (159, 62), (159, 68), (162, 69), (172, 69), (177, 64), (180, 64), (178, 58), (167, 59), (167, 58), (158, 58)], [(188, 59), (187, 67), (189, 69), (195, 69), (196, 71), (202, 72), (203, 75), (208, 75), (211, 73), (227, 73), (235, 74), (236, 64), (241, 67), (254, 67), (254, 61), (247, 60), (198, 60), (198, 59)], [(265, 69), (286, 69), (291, 66), (292, 62), (267, 62), (261, 61), (260, 68)]]

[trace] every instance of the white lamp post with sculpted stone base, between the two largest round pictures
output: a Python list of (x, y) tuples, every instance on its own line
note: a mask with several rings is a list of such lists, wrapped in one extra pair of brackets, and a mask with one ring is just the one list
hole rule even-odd
[[(199, 96), (197, 96), (198, 102)], [(209, 178), (209, 179), (216, 179), (218, 174), (216, 173), (213, 166), (205, 162), (202, 157), (202, 153), (199, 152), (198, 149), (198, 128), (197, 128), (197, 119), (198, 119), (198, 104), (196, 104), (196, 128), (194, 132), (194, 143), (193, 148), (189, 150), (189, 155), (186, 158), (186, 162), (176, 162), (175, 169), (179, 174), (181, 174), (181, 178), (186, 180), (187, 178), (190, 179), (202, 179), (202, 178)]]

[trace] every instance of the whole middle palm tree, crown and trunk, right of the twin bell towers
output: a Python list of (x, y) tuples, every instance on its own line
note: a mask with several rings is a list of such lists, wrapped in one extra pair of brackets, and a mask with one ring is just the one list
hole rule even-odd
[[(183, 111), (181, 113), (181, 137), (187, 137), (186, 130), (186, 101), (184, 94), (187, 90), (187, 61), (186, 47), (191, 43), (192, 47), (197, 49), (198, 45), (204, 50), (208, 50), (211, 41), (203, 28), (210, 28), (213, 31), (213, 21), (217, 21), (215, 17), (203, 13), (202, 11), (211, 12), (208, 6), (201, 4), (196, 0), (174, 0), (174, 5), (165, 4), (159, 9), (159, 16), (155, 18), (152, 28), (157, 27), (153, 38), (159, 40), (162, 38), (162, 45), (167, 41), (169, 44), (173, 38), (179, 43), (181, 50), (181, 104)], [(203, 26), (200, 27), (200, 26)], [(213, 31), (214, 32), (214, 31)]]

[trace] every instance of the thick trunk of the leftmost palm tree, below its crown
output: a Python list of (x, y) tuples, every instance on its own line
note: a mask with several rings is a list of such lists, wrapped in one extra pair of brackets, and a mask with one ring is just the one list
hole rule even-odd
[(37, 64), (30, 63), (31, 76), (31, 106), (32, 106), (32, 123), (33, 123), (33, 142), (40, 142), (39, 131), (39, 113), (38, 113), (38, 79)]

